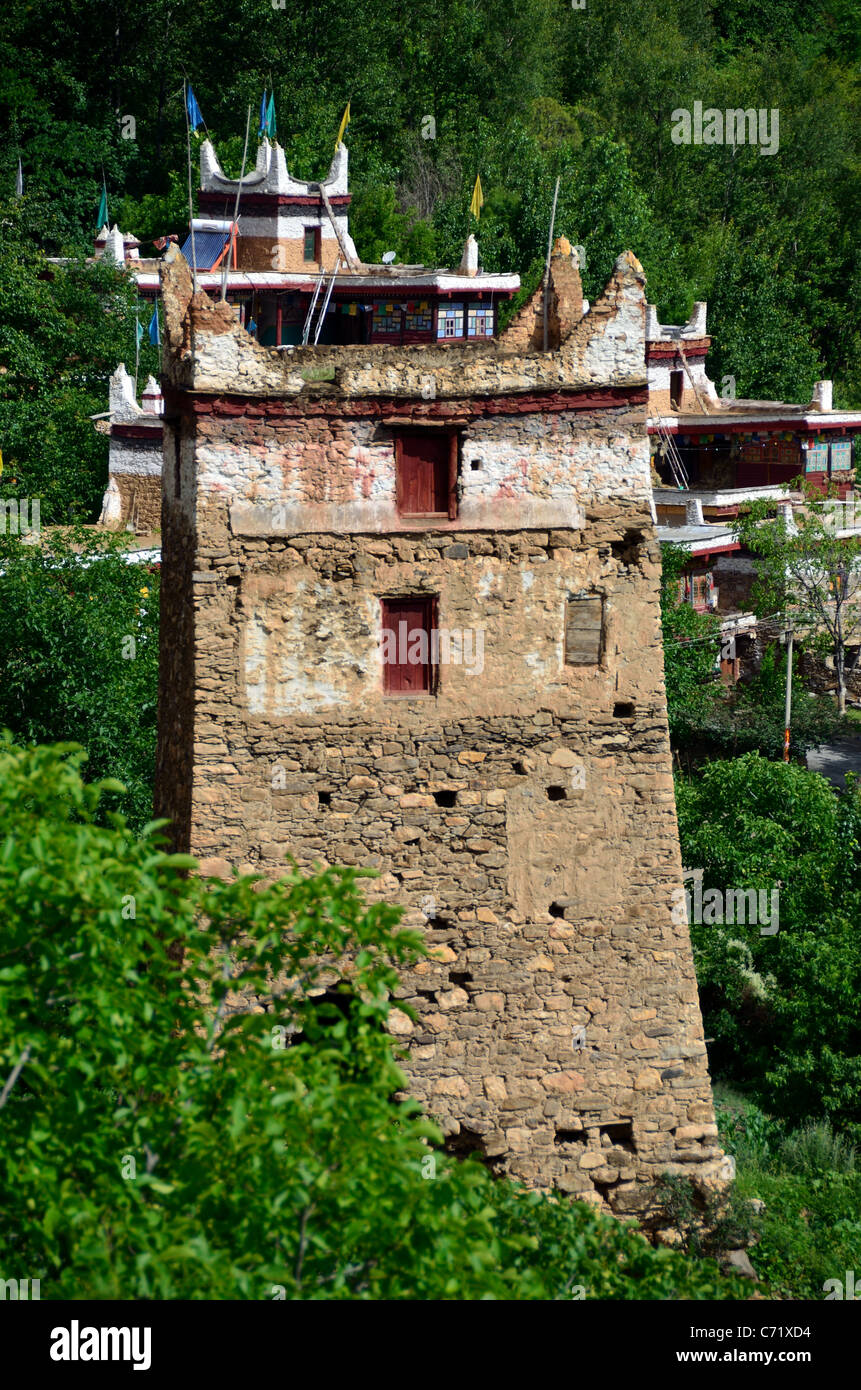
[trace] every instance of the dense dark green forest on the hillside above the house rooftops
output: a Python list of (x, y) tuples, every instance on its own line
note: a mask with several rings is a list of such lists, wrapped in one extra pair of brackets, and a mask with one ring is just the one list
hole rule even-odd
[[(185, 76), (235, 175), (264, 88), (302, 178), (325, 171), (349, 100), (366, 259), (456, 264), (480, 172), (483, 263), (529, 282), (558, 174), (587, 295), (630, 247), (665, 321), (709, 302), (711, 367), (739, 395), (803, 400), (828, 375), (857, 406), (860, 15), (858, 0), (8, 0), (0, 183), (13, 193), (21, 158), (47, 253), (86, 250), (103, 172), (111, 221), (182, 231)], [(672, 113), (695, 101), (779, 113), (779, 147), (673, 143)]]

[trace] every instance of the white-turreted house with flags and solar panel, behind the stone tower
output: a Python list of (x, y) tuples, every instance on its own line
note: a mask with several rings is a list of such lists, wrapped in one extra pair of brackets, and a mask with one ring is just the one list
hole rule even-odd
[[(459, 348), (492, 341), (499, 304), (520, 288), (519, 275), (483, 271), (474, 236), (467, 238), (455, 270), (394, 260), (363, 264), (349, 234), (348, 158), (339, 143), (327, 177), (320, 183), (303, 182), (288, 174), (282, 147), (264, 138), (256, 168), (239, 186), (239, 179), (225, 177), (211, 142), (204, 140), (202, 215), (193, 218), (182, 245), (182, 254), (196, 267), (198, 288), (227, 299), (257, 342), (287, 352), (309, 342)], [(167, 246), (167, 254), (174, 253)], [(115, 227), (103, 227), (96, 236), (95, 256), (106, 254), (124, 263), (140, 297), (156, 304), (161, 256), (142, 257), (140, 242)], [(111, 484), (103, 509), (103, 520), (114, 525), (135, 525), (138, 516), (146, 525), (150, 520), (139, 500), (146, 485), (129, 457), (132, 428), (145, 427), (129, 418), (122, 395), (118, 413), (111, 400)], [(156, 432), (146, 438), (154, 448)]]

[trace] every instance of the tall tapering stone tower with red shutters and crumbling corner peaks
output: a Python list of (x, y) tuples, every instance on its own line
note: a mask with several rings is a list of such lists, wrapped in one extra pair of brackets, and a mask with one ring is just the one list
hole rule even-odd
[(487, 345), (260, 348), (164, 268), (157, 810), (209, 872), (371, 866), (455, 1151), (616, 1212), (721, 1179), (682, 887), (644, 275)]

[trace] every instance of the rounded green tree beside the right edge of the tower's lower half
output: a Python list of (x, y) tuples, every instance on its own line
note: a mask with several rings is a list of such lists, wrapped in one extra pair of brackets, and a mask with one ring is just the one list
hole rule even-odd
[(746, 753), (680, 778), (676, 806), (704, 891), (754, 890), (769, 909), (778, 892), (773, 934), (750, 920), (691, 924), (719, 1074), (776, 1115), (825, 1115), (861, 1136), (858, 791), (837, 796), (818, 773)]

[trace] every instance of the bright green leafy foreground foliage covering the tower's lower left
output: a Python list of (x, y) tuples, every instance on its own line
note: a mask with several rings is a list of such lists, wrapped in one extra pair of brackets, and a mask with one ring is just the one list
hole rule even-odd
[[(0, 745), (0, 1265), (42, 1298), (719, 1298), (715, 1265), (456, 1162), (362, 873), (207, 880)], [(401, 1005), (405, 1008), (405, 1005)]]

